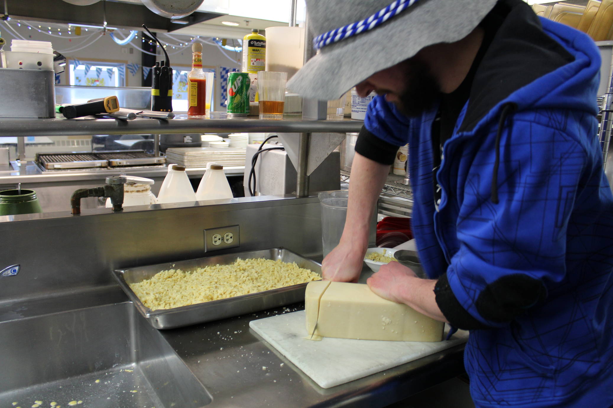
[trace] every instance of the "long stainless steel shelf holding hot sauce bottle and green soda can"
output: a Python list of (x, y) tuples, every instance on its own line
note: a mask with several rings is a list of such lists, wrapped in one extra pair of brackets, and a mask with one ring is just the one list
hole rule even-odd
[[(181, 115), (180, 115), (181, 116)], [(359, 132), (364, 121), (261, 120), (261, 119), (183, 119), (169, 121), (138, 118), (119, 119), (2, 119), (0, 137), (6, 136), (75, 136), (173, 133), (232, 132)]]

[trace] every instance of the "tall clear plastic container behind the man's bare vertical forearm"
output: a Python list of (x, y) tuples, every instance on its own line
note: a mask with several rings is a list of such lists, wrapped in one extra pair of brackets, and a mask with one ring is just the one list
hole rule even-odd
[(349, 191), (322, 191), (318, 197), (321, 203), (321, 242), (326, 257), (338, 245), (343, 235)]

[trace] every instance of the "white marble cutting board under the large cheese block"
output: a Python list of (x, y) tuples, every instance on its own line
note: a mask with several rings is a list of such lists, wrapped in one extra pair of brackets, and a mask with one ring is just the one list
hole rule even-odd
[(252, 320), (249, 327), (322, 388), (370, 376), (468, 340), (468, 331), (459, 330), (451, 339), (440, 342), (335, 338), (312, 341), (304, 338), (304, 311)]

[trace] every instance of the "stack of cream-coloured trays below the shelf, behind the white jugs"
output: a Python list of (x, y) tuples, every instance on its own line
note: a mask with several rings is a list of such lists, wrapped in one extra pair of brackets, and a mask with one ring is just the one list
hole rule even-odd
[(245, 148), (168, 148), (166, 160), (185, 167), (206, 167), (208, 163), (244, 166)]

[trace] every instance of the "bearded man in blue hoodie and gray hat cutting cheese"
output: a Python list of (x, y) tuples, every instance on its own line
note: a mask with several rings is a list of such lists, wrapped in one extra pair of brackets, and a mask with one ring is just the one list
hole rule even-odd
[(613, 196), (592, 40), (521, 0), (313, 0), (307, 11), (320, 52), (289, 88), (378, 94), (324, 279), (359, 277), (368, 220), (408, 143), (430, 279), (392, 262), (368, 279), (373, 292), (470, 330), (478, 407), (613, 406)]

